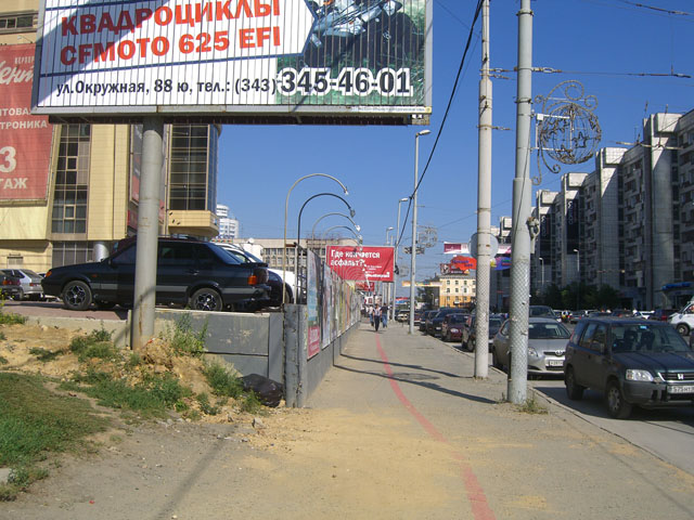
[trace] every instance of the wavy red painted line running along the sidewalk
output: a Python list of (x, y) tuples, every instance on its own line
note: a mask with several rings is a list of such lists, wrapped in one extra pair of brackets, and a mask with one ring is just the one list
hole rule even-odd
[[(388, 381), (390, 382), (390, 388), (393, 389), (394, 393), (398, 396), (407, 411), (412, 414), (416, 421), (422, 425), (422, 428), (424, 428), (433, 439), (451, 446), (451, 443), (444, 437), (444, 434), (438, 431), (436, 427), (432, 422), (429, 422), (426, 417), (424, 417), (404, 395), (402, 389), (400, 388), (400, 385), (398, 385), (398, 381), (393, 378), (393, 368), (390, 367), (390, 363), (388, 362), (388, 356), (386, 355), (385, 350), (383, 350), (383, 347), (381, 347), (378, 336), (375, 336), (375, 338), (376, 349), (378, 349), (378, 354), (381, 355), (381, 360), (383, 361), (383, 366), (386, 370), (386, 374), (388, 375)], [(497, 517), (489, 507), (487, 495), (485, 495), (485, 490), (481, 489), (479, 480), (477, 480), (475, 472), (465, 460), (465, 457), (460, 452), (454, 451), (453, 458), (458, 460), (458, 464), (460, 466), (461, 479), (465, 484), (467, 500), (470, 502), (470, 507), (473, 510), (473, 517), (475, 518), (475, 520), (496, 520)]]

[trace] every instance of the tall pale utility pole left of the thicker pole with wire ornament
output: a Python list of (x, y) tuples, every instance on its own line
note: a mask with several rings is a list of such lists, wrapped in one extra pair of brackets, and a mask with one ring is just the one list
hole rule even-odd
[(489, 79), (489, 0), (481, 8), (481, 79), (477, 169), (477, 302), (475, 377), (489, 372), (489, 264), (491, 262), (491, 79)]

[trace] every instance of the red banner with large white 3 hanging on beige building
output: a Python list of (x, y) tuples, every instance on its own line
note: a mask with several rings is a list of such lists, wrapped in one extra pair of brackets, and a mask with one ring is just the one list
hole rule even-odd
[(34, 44), (0, 46), (0, 200), (46, 200), (53, 129), (33, 116)]

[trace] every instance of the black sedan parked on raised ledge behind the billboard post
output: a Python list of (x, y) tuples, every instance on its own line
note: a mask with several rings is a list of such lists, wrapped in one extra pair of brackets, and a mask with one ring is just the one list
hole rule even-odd
[[(119, 245), (101, 262), (51, 269), (43, 292), (62, 298), (66, 309), (83, 311), (94, 303), (108, 309), (131, 306), (134, 298), (137, 242)], [(221, 311), (247, 302), (267, 304), (267, 268), (241, 263), (211, 243), (159, 238), (156, 303)]]

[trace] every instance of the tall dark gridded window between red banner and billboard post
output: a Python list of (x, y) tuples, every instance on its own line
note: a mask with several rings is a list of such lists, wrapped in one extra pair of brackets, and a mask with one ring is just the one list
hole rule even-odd
[(62, 127), (53, 195), (53, 233), (87, 233), (90, 145), (89, 125)]

